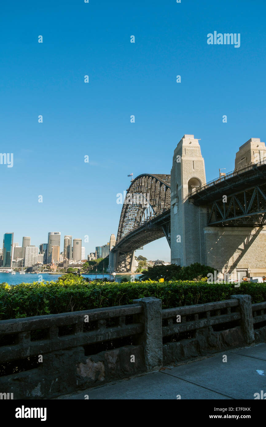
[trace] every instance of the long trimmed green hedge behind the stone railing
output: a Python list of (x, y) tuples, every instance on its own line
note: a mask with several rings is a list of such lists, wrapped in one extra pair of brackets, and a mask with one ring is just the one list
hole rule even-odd
[(237, 288), (190, 281), (99, 284), (82, 278), (16, 286), (4, 283), (0, 284), (0, 320), (132, 304), (133, 299), (147, 296), (160, 298), (162, 308), (171, 308), (230, 299), (233, 294), (251, 295), (252, 303), (266, 301), (266, 284), (242, 282)]

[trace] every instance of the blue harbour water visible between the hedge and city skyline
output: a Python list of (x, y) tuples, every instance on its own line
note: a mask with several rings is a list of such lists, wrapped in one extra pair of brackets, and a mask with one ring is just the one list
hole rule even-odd
[[(32, 283), (32, 282), (38, 282), (38, 281), (56, 281), (58, 277), (60, 277), (62, 274), (49, 274), (49, 273), (25, 273), (25, 274), (19, 274), (19, 272), (16, 272), (16, 274), (11, 273), (0, 273), (0, 283), (8, 283), (9, 285), (18, 285), (19, 283)], [(82, 274), (83, 277), (91, 278), (94, 280), (96, 278), (96, 274)], [(125, 275), (117, 275), (115, 278), (116, 282), (120, 282), (123, 277), (128, 278), (130, 281), (132, 275), (125, 274)], [(135, 278), (139, 277), (140, 274), (134, 275)], [(104, 277), (110, 278), (109, 274), (105, 274)], [(98, 279), (102, 279), (102, 274), (97, 274)], [(111, 275), (111, 278), (113, 276)]]

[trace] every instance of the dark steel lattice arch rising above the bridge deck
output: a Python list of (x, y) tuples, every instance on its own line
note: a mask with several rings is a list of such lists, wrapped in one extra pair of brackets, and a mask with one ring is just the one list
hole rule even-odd
[(145, 222), (170, 209), (170, 175), (138, 175), (127, 190), (116, 245)]

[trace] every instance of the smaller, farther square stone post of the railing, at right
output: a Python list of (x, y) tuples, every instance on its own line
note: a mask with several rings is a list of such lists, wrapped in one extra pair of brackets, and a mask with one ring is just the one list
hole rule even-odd
[(252, 316), (252, 305), (250, 295), (231, 295), (231, 298), (238, 299), (240, 315), (241, 315), (241, 327), (245, 336), (247, 344), (251, 344), (254, 341), (254, 327), (253, 327), (253, 316)]

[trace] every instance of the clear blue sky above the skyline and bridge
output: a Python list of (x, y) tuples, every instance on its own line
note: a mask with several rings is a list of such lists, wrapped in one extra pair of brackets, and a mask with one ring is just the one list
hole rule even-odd
[[(201, 138), (207, 181), (233, 170), (240, 145), (266, 140), (265, 12), (237, 0), (2, 4), (0, 152), (14, 166), (0, 165), (0, 236), (39, 245), (61, 231), (94, 251), (117, 234), (127, 175), (170, 173), (184, 134)], [(208, 45), (214, 31), (240, 33), (240, 47)], [(165, 238), (137, 254), (170, 260)]]

